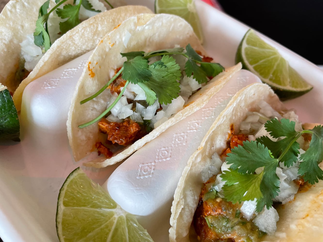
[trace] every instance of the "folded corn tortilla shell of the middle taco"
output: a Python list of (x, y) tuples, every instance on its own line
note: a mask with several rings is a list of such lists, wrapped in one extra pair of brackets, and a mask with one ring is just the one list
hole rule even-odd
[[(127, 41), (126, 44), (124, 43), (125, 40)], [(126, 58), (121, 58), (120, 52), (149, 52), (152, 50), (173, 48), (175, 45), (185, 47), (189, 43), (195, 50), (201, 51), (203, 55), (206, 55), (192, 27), (178, 16), (165, 14), (142, 14), (131, 17), (104, 37), (89, 58), (88, 68), (84, 70), (78, 81), (68, 114), (68, 138), (75, 160), (78, 161), (89, 155), (93, 151), (94, 144), (99, 141), (97, 124), (82, 129), (78, 128), (78, 125), (99, 116), (107, 108), (107, 102), (109, 100), (108, 96), (102, 93), (83, 105), (80, 105), (80, 101), (96, 93), (114, 75), (114, 71), (122, 66)], [(84, 165), (105, 167), (123, 160), (145, 143), (157, 137), (168, 127), (204, 106), (210, 97), (224, 86), (230, 76), (240, 68), (241, 65), (239, 64), (221, 73), (198, 93), (193, 95), (182, 111), (154, 129), (148, 135), (136, 141), (130, 147), (125, 147), (121, 153), (107, 160), (104, 157), (100, 157)]]

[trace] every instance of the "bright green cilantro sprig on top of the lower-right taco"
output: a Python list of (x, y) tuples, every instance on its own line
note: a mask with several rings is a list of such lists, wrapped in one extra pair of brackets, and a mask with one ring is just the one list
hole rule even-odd
[[(302, 134), (311, 135), (309, 148), (299, 156), (298, 174), (310, 184), (323, 180), (323, 171), (318, 166), (323, 160), (323, 127), (295, 131), (295, 122), (288, 119), (271, 119), (265, 124), (266, 131), (278, 141), (267, 136), (256, 141), (244, 141), (228, 154), (226, 161), (232, 164), (221, 174), (225, 181), (224, 197), (233, 203), (257, 199), (256, 211), (265, 206), (269, 209), (272, 199), (278, 195), (280, 181), (276, 168), (280, 162), (293, 166), (299, 155), (297, 139)], [(260, 170), (261, 171), (260, 171)], [(257, 172), (257, 173), (256, 173)]]

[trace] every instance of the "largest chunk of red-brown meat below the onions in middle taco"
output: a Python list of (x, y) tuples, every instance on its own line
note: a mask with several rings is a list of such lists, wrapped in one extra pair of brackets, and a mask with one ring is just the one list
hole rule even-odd
[(108, 135), (107, 140), (113, 144), (117, 143), (122, 146), (127, 146), (141, 138), (137, 136), (141, 129), (140, 125), (131, 119), (125, 119), (121, 123), (109, 122), (106, 119), (102, 119), (99, 122), (99, 128), (102, 133)]

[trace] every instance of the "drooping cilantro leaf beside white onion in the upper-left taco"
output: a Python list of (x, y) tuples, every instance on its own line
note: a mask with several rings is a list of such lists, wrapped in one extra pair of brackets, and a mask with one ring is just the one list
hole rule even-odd
[(34, 43), (37, 46), (44, 46), (45, 51), (50, 48), (50, 38), (47, 31), (44, 28), (44, 24), (48, 19), (48, 15), (44, 15), (37, 19), (36, 29), (34, 32)]

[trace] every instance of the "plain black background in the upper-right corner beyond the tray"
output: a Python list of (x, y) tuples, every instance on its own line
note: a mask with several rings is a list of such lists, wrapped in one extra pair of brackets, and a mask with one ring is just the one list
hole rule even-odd
[(224, 12), (323, 65), (322, 0), (218, 0)]

